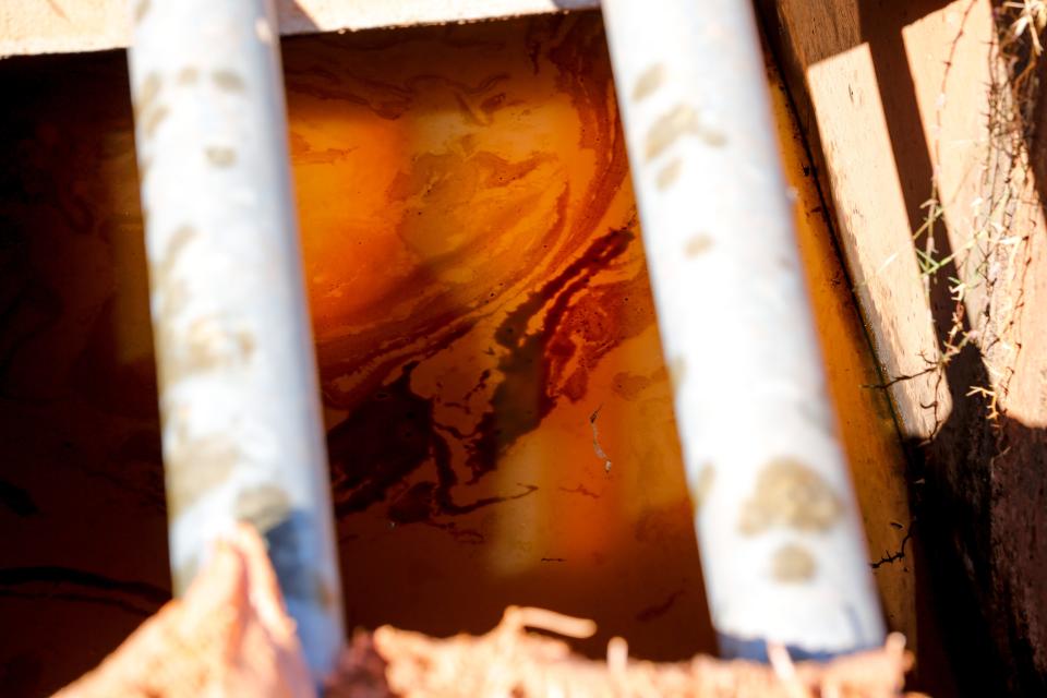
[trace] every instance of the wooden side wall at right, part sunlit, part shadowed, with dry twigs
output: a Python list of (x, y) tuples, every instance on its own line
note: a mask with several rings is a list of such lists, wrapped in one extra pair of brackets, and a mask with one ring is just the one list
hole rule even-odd
[(1007, 17), (988, 0), (762, 5), (918, 446), (915, 513), (954, 665), (975, 690), (1042, 694), (1047, 318), (1028, 309), (1047, 257), (1022, 164), (1043, 158), (1030, 129), (1012, 133)]

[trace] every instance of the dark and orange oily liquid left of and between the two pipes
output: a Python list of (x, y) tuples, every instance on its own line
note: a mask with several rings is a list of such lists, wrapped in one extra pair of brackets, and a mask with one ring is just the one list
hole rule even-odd
[[(599, 16), (285, 40), (350, 627), (712, 649)], [(0, 685), (169, 593), (125, 56), (0, 63)], [(230, 282), (234, 282), (231, 279)]]

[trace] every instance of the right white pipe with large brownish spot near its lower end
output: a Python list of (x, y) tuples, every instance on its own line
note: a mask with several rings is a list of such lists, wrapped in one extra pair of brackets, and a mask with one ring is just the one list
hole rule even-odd
[(603, 13), (721, 650), (880, 646), (750, 3)]

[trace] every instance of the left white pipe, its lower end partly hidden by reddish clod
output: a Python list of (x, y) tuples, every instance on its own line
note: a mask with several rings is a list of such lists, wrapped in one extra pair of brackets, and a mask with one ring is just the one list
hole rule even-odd
[(344, 629), (320, 390), (264, 0), (137, 0), (130, 52), (176, 593), (234, 520), (306, 661)]

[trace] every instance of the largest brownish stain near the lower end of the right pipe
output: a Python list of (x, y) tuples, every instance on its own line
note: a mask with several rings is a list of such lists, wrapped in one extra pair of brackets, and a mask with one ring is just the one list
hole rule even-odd
[(756, 491), (742, 507), (745, 535), (784, 527), (826, 531), (843, 515), (843, 503), (820, 474), (794, 458), (775, 458), (757, 477)]

